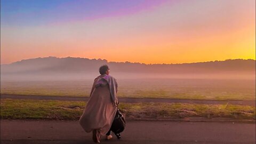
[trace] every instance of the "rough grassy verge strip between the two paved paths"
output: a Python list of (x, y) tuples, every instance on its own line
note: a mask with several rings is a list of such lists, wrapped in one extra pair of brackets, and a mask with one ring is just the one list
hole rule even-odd
[[(1, 119), (77, 120), (86, 102), (1, 99)], [(255, 107), (198, 105), (185, 103), (121, 103), (127, 119), (168, 119), (173, 117), (227, 117), (255, 119)]]

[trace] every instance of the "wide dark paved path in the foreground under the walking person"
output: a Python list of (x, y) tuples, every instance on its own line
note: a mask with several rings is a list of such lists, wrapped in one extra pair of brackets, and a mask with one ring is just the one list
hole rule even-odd
[[(3, 143), (93, 143), (77, 121), (1, 120)], [(101, 143), (255, 143), (255, 123), (127, 121), (120, 140)]]

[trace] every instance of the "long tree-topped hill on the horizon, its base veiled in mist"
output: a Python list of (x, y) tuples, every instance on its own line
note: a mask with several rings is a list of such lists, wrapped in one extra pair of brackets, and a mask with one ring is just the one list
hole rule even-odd
[(201, 76), (255, 76), (255, 60), (225, 60), (182, 64), (149, 64), (132, 62), (108, 62), (102, 59), (86, 58), (35, 58), (1, 65), (1, 78), (11, 77), (58, 77), (58, 76), (97, 76), (101, 65), (108, 65), (110, 73), (118, 77), (172, 77), (190, 75), (195, 78)]

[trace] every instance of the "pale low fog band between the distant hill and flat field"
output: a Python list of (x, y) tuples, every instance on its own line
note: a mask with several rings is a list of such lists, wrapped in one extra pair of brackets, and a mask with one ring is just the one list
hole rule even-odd
[[(219, 74), (143, 74), (143, 73), (115, 73), (110, 71), (110, 75), (116, 79), (145, 79), (145, 78), (165, 78), (165, 79), (255, 79), (253, 73), (219, 73)], [(99, 72), (87, 74), (1, 74), (1, 81), (83, 81), (94, 79), (99, 76)]]

